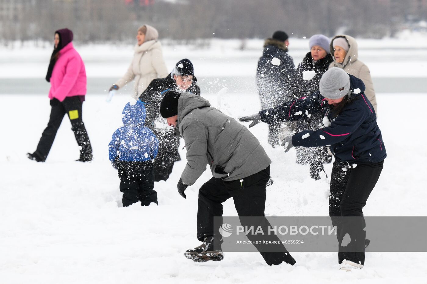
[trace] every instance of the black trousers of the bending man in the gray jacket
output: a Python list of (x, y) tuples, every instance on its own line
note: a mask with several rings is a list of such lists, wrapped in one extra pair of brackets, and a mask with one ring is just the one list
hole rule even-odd
[[(268, 232), (269, 222), (264, 217), (266, 202), (266, 184), (269, 180), (270, 167), (259, 171), (249, 177), (240, 180), (224, 181), (211, 178), (199, 189), (199, 204), (197, 209), (197, 238), (203, 241), (206, 236), (214, 234), (213, 217), (222, 216), (222, 203), (230, 197), (233, 197), (234, 206), (240, 217), (257, 216), (256, 223), (259, 224), (264, 232)], [(245, 223), (246, 220), (240, 219), (242, 226), (251, 226), (254, 224)], [(252, 241), (252, 237), (248, 235)], [(271, 240), (278, 241), (277, 236), (271, 237)], [(258, 250), (258, 246), (256, 246)], [(260, 254), (268, 265), (277, 265), (282, 262), (295, 264), (295, 260), (287, 252), (283, 245), (278, 245), (277, 252), (262, 252)]]

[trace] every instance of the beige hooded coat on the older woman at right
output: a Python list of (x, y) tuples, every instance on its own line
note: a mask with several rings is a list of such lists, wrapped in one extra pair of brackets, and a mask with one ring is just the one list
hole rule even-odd
[[(342, 64), (336, 63), (335, 58), (333, 57), (333, 40), (335, 38), (345, 38), (348, 42), (348, 52), (345, 55), (344, 61)], [(349, 35), (337, 35), (330, 41), (330, 54), (332, 55), (333, 62), (329, 64), (329, 69), (332, 67), (339, 67), (344, 69), (348, 74), (354, 75), (365, 84), (366, 90), (365, 95), (371, 101), (372, 106), (377, 113), (377, 99), (375, 98), (374, 84), (372, 84), (371, 72), (369, 68), (360, 60), (358, 60), (357, 54), (357, 42), (356, 40)]]

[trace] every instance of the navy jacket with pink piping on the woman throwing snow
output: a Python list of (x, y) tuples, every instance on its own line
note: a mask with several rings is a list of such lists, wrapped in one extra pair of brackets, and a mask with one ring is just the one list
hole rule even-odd
[[(338, 116), (333, 117), (333, 111), (329, 112), (329, 127), (296, 133), (292, 136), (292, 145), (328, 145), (335, 157), (344, 162), (381, 162), (387, 154), (374, 107), (363, 93), (365, 84), (353, 75), (349, 76), (353, 101), (346, 104)], [(325, 113), (329, 107), (328, 102), (317, 92), (259, 113), (261, 121), (267, 123), (295, 121), (316, 112)]]

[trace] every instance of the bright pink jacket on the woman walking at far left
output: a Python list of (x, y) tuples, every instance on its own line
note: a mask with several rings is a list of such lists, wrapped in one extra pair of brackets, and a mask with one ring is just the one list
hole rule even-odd
[(64, 101), (66, 97), (86, 95), (85, 64), (73, 43), (59, 51), (58, 60), (50, 78), (49, 99)]

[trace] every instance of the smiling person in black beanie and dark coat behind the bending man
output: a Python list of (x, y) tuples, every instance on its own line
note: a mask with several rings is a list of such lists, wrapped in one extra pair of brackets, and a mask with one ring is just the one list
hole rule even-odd
[[(150, 128), (159, 140), (159, 151), (154, 161), (154, 180), (167, 180), (172, 173), (173, 165), (181, 160), (178, 154), (179, 138), (173, 135), (173, 130), (167, 126), (166, 120), (159, 113), (160, 102), (168, 90), (193, 93), (200, 95), (200, 88), (196, 85), (194, 67), (187, 58), (175, 64), (172, 72), (166, 78), (151, 81), (146, 90), (139, 96), (147, 110), (146, 126)], [(172, 147), (171, 147), (172, 146)]]

